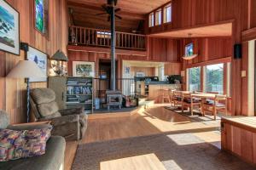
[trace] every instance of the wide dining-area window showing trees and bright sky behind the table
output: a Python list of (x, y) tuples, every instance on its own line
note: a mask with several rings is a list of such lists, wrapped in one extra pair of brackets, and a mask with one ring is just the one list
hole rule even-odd
[(224, 64), (206, 66), (206, 92), (224, 94)]

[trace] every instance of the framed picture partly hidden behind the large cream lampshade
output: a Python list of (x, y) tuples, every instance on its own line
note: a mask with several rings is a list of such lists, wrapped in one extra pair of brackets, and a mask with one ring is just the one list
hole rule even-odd
[(34, 61), (45, 75), (45, 78), (30, 78), (29, 82), (47, 82), (47, 54), (29, 46), (26, 59)]

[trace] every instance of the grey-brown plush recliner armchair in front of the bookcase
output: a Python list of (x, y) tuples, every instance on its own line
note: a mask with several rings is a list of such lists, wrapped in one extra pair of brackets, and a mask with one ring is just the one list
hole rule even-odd
[(65, 137), (66, 140), (83, 138), (88, 117), (83, 107), (59, 110), (55, 92), (50, 88), (34, 88), (30, 95), (32, 114), (38, 122), (51, 121), (53, 135)]

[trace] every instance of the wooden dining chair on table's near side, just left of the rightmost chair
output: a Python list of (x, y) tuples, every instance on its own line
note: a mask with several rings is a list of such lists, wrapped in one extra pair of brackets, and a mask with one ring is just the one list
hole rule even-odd
[(201, 110), (201, 99), (196, 98), (195, 96), (193, 96), (193, 94), (184, 94), (183, 95), (183, 107), (189, 108), (191, 116), (194, 115), (193, 111), (196, 106)]

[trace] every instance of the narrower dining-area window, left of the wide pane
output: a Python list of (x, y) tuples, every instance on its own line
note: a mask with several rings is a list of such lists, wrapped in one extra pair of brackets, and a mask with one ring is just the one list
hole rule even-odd
[(189, 91), (201, 91), (201, 67), (189, 69)]

